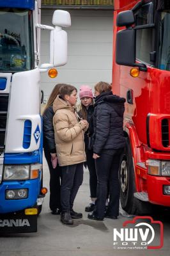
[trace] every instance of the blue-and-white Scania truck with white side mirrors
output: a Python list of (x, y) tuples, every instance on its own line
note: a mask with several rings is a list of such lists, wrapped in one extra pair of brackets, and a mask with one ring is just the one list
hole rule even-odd
[[(40, 74), (67, 61), (70, 14), (41, 24), (41, 1), (0, 1), (0, 233), (36, 232), (43, 188)], [(40, 65), (40, 31), (49, 30), (49, 63)], [(49, 72), (49, 74), (54, 72)]]

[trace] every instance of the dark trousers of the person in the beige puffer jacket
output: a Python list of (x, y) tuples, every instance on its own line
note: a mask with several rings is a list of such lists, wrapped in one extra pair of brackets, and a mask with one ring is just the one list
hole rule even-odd
[(70, 212), (83, 180), (83, 163), (62, 166), (61, 209)]

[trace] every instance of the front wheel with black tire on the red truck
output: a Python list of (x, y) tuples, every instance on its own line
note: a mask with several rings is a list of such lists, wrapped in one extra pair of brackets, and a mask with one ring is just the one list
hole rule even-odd
[(130, 148), (130, 142), (128, 138), (126, 138), (125, 150), (120, 161), (120, 202), (121, 207), (128, 214), (136, 214), (134, 191), (135, 182), (132, 150)]

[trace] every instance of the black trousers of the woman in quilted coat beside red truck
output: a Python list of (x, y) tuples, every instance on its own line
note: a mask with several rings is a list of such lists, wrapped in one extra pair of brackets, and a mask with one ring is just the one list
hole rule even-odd
[(119, 215), (120, 205), (120, 182), (118, 171), (120, 157), (123, 148), (116, 150), (103, 150), (101, 156), (95, 160), (97, 169), (97, 200), (94, 214), (98, 218), (104, 218), (105, 200), (107, 198), (107, 184), (109, 184), (109, 216)]

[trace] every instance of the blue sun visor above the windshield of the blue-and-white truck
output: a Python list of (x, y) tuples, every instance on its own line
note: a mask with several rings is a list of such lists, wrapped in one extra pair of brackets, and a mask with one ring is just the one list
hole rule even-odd
[(35, 10), (35, 0), (1, 0), (0, 7), (23, 8)]

